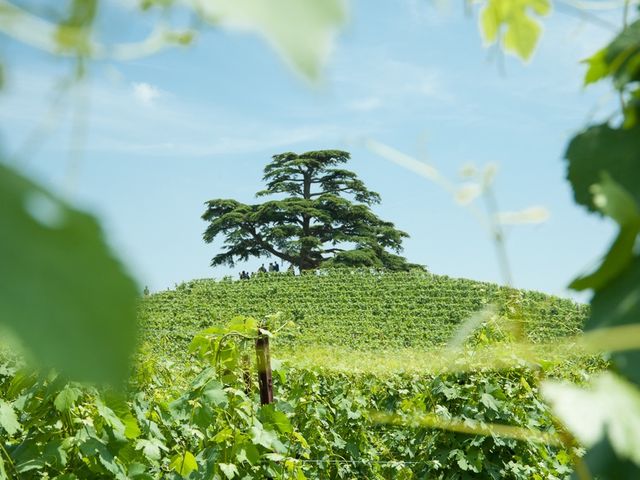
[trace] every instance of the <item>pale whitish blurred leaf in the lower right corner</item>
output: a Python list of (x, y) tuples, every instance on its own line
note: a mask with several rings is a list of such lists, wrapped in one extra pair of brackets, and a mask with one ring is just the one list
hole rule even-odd
[(618, 457), (640, 465), (637, 387), (607, 372), (596, 377), (589, 389), (549, 381), (541, 390), (554, 413), (582, 444), (591, 448), (606, 438)]

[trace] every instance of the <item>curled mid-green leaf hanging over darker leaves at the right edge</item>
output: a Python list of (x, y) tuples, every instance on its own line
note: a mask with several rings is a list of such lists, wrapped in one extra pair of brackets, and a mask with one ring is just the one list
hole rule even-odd
[(620, 184), (603, 173), (600, 183), (592, 186), (593, 203), (620, 225), (620, 232), (600, 267), (593, 273), (575, 279), (570, 288), (599, 290), (618, 276), (633, 259), (633, 248), (640, 232), (638, 204)]

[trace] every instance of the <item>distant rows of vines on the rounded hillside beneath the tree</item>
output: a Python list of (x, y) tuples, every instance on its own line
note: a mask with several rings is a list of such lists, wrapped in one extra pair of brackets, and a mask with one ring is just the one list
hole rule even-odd
[(212, 324), (275, 312), (298, 326), (295, 336), (277, 340), (279, 346), (424, 349), (444, 344), (462, 321), (489, 303), (521, 322), (533, 341), (577, 333), (588, 312), (570, 300), (466, 279), (334, 272), (195, 280), (146, 298), (140, 318), (152, 348), (174, 358), (182, 356), (195, 333)]

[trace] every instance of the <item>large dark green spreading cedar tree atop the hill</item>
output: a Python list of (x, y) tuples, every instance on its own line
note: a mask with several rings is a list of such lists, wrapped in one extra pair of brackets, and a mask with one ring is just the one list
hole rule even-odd
[[(266, 188), (256, 194), (284, 195), (255, 205), (236, 200), (206, 202), (210, 222), (204, 240), (225, 238), (212, 266), (233, 266), (249, 257), (273, 256), (300, 270), (372, 267), (393, 271), (419, 267), (397, 255), (408, 235), (370, 209), (380, 195), (354, 172), (338, 168), (350, 158), (341, 150), (274, 155), (264, 169)], [(395, 252), (395, 253), (394, 253)]]

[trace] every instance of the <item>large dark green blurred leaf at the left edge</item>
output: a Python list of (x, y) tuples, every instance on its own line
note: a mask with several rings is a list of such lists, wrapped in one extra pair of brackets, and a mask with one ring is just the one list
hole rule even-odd
[(0, 165), (0, 225), (0, 322), (46, 366), (126, 378), (137, 288), (96, 220)]

